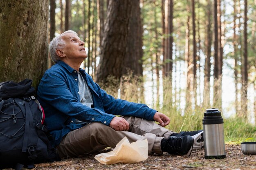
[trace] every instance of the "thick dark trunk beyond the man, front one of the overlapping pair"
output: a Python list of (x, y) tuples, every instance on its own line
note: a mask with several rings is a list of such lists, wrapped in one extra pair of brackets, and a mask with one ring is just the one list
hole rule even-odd
[(126, 57), (128, 24), (133, 2), (132, 0), (109, 1), (101, 58), (96, 74), (97, 82), (107, 82), (110, 75), (119, 80), (121, 78), (122, 66)]

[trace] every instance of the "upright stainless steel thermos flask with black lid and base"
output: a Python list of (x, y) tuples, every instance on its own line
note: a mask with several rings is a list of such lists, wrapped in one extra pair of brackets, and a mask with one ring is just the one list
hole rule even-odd
[(203, 119), (205, 159), (223, 159), (226, 157), (223, 123), (218, 108), (206, 109)]

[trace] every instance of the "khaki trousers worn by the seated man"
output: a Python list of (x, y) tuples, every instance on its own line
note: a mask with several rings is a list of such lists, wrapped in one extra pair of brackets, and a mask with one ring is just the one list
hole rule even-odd
[(124, 119), (130, 124), (129, 131), (116, 131), (102, 123), (93, 122), (69, 132), (57, 146), (58, 155), (61, 159), (66, 159), (97, 152), (106, 147), (115, 148), (124, 137), (127, 137), (130, 143), (148, 139), (148, 154), (162, 154), (161, 140), (174, 133), (153, 121), (129, 116)]

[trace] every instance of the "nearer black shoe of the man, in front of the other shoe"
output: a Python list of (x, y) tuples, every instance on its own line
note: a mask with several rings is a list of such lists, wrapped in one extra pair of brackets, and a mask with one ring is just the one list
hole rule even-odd
[(162, 139), (161, 149), (169, 154), (189, 156), (192, 152), (193, 143), (194, 138), (189, 135), (182, 137), (170, 136), (168, 139)]

